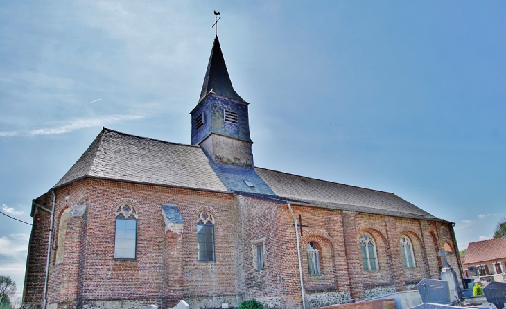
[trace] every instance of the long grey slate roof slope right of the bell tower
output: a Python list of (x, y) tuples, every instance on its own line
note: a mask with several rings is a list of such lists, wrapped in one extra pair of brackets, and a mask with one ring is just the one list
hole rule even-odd
[(265, 168), (255, 170), (276, 195), (287, 199), (363, 213), (440, 220), (394, 193), (326, 182)]

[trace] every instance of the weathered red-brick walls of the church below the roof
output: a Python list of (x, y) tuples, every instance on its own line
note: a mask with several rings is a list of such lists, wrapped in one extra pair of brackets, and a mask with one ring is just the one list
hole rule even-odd
[[(127, 202), (137, 211), (137, 258), (114, 259), (115, 213)], [(51, 195), (37, 200), (51, 208)], [(184, 224), (166, 229), (162, 204), (180, 209)], [(308, 308), (367, 299), (406, 290), (421, 278), (439, 278), (437, 251), (456, 248), (452, 227), (338, 209), (290, 205), (301, 216), (301, 264)], [(82, 179), (56, 191), (55, 227), (71, 209), (63, 263), (51, 250), (48, 303), (51, 308), (161, 308), (180, 299), (191, 308), (237, 307), (259, 299), (266, 307), (302, 308), (296, 231), (287, 204), (275, 200), (184, 188)], [(215, 218), (216, 261), (198, 261), (196, 219)], [(30, 236), (24, 306), (42, 304), (50, 215), (38, 211)], [(55, 228), (58, 229), (58, 228)], [(359, 239), (376, 243), (378, 270), (363, 270)], [(55, 231), (55, 242), (60, 237)], [(403, 268), (399, 239), (410, 238), (416, 267)], [(254, 244), (264, 242), (263, 270), (256, 270)], [(306, 247), (319, 250), (321, 274), (310, 276)], [(53, 247), (55, 243), (53, 243)], [(455, 250), (448, 261), (460, 275)]]

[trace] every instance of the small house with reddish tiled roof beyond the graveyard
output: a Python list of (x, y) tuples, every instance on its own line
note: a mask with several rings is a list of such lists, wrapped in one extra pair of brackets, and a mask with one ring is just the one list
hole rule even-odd
[(506, 237), (470, 242), (464, 272), (482, 281), (506, 281)]

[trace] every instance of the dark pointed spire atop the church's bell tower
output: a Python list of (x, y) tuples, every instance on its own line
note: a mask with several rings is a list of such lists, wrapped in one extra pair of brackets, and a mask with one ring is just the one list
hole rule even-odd
[(200, 91), (199, 102), (211, 91), (227, 98), (243, 101), (243, 98), (232, 87), (232, 81), (227, 71), (223, 53), (221, 52), (218, 35), (214, 38), (213, 49), (209, 57), (209, 64), (207, 64), (206, 76), (204, 78), (204, 85), (202, 85), (202, 91)]

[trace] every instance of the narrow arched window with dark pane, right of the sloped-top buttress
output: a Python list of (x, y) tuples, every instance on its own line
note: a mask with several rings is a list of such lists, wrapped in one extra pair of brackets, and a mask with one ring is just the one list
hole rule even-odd
[(215, 261), (214, 217), (202, 211), (197, 218), (198, 261)]

